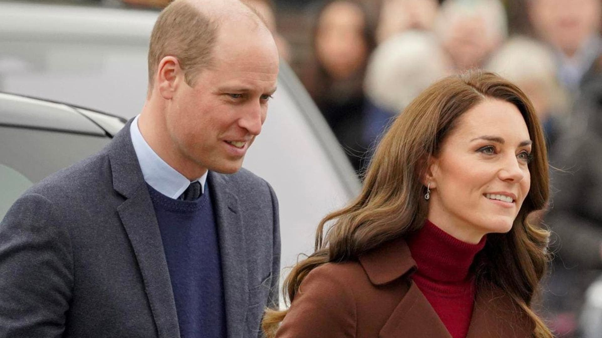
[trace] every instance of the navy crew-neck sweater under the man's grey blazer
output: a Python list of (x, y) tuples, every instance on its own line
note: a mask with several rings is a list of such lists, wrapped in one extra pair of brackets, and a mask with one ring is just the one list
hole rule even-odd
[(222, 265), (211, 197), (169, 198), (148, 186), (163, 239), (182, 338), (226, 337)]

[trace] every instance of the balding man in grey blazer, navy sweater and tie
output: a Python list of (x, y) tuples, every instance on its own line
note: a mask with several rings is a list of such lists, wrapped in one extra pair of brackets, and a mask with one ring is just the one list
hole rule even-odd
[(272, 35), (238, 0), (169, 5), (141, 114), (0, 223), (0, 337), (261, 336), (278, 203), (241, 164), (277, 76)]

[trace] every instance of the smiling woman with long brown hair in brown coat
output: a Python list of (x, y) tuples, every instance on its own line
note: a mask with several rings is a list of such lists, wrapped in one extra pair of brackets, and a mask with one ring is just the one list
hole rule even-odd
[(435, 82), (383, 137), (359, 197), (321, 221), (265, 332), (552, 337), (531, 308), (548, 232), (526, 221), (548, 198), (547, 166), (518, 87), (482, 72)]

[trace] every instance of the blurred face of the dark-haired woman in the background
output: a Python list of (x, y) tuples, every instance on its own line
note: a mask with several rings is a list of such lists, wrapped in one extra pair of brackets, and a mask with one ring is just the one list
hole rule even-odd
[(321, 14), (315, 37), (317, 58), (335, 79), (346, 79), (365, 63), (364, 13), (346, 1), (330, 4)]

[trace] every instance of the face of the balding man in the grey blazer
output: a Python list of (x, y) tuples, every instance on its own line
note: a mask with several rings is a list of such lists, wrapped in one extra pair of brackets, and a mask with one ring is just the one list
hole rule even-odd
[(219, 29), (213, 60), (193, 87), (178, 80), (165, 124), (179, 167), (235, 173), (276, 90), (278, 51), (267, 29), (241, 22)]

